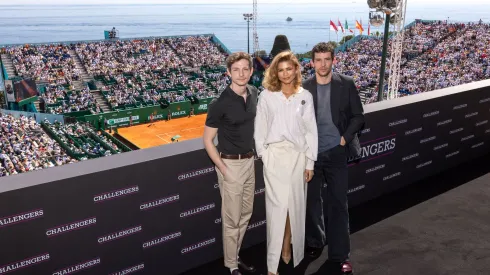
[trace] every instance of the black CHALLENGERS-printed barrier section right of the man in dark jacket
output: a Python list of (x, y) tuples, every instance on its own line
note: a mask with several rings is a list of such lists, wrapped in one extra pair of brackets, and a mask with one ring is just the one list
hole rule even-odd
[(489, 153), (489, 120), (489, 87), (367, 114), (351, 205)]

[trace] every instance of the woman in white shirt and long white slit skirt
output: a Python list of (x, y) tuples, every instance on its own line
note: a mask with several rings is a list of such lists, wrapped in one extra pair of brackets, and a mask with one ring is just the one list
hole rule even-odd
[(255, 117), (255, 145), (264, 163), (267, 268), (277, 274), (280, 257), (296, 267), (304, 256), (306, 183), (313, 177), (318, 132), (313, 98), (301, 87), (298, 59), (278, 54), (267, 71)]

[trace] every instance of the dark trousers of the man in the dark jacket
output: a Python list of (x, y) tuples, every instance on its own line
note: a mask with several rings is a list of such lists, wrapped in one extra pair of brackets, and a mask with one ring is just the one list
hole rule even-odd
[[(323, 214), (323, 184), (327, 184)], [(349, 211), (347, 206), (348, 174), (345, 147), (337, 146), (318, 154), (315, 175), (308, 183), (306, 203), (306, 244), (322, 248), (328, 240), (328, 258), (345, 261), (349, 258)], [(325, 232), (325, 224), (327, 230)], [(326, 233), (326, 234), (325, 234)]]

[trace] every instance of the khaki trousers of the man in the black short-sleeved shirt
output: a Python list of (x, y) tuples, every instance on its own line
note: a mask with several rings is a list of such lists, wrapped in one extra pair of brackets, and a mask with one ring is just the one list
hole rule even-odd
[(237, 268), (238, 252), (253, 212), (255, 193), (254, 158), (223, 159), (226, 176), (216, 168), (221, 193), (221, 223), (225, 266)]

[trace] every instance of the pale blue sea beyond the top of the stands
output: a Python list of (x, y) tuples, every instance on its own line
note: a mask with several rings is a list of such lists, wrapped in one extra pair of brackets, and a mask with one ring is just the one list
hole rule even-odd
[[(14, 2), (14, 1), (12, 1)], [(258, 4), (259, 47), (270, 52), (274, 38), (286, 35), (291, 49), (304, 53), (318, 42), (340, 41), (343, 34), (329, 28), (330, 20), (349, 28), (362, 21), (367, 32), (367, 1), (337, 1), (308, 4), (285, 0), (281, 4)], [(470, 1), (471, 2), (471, 1)], [(459, 3), (407, 4), (405, 24), (415, 19), (450, 22), (490, 22), (488, 4)], [(115, 27), (121, 38), (215, 34), (229, 50), (253, 49), (253, 25), (247, 26), (244, 13), (250, 4), (162, 4), (162, 5), (0, 5), (0, 45), (44, 43), (104, 38), (104, 30)], [(293, 20), (286, 21), (287, 17)], [(380, 31), (373, 28), (371, 32)], [(358, 32), (357, 32), (358, 33)], [(347, 34), (346, 34), (347, 35)]]

